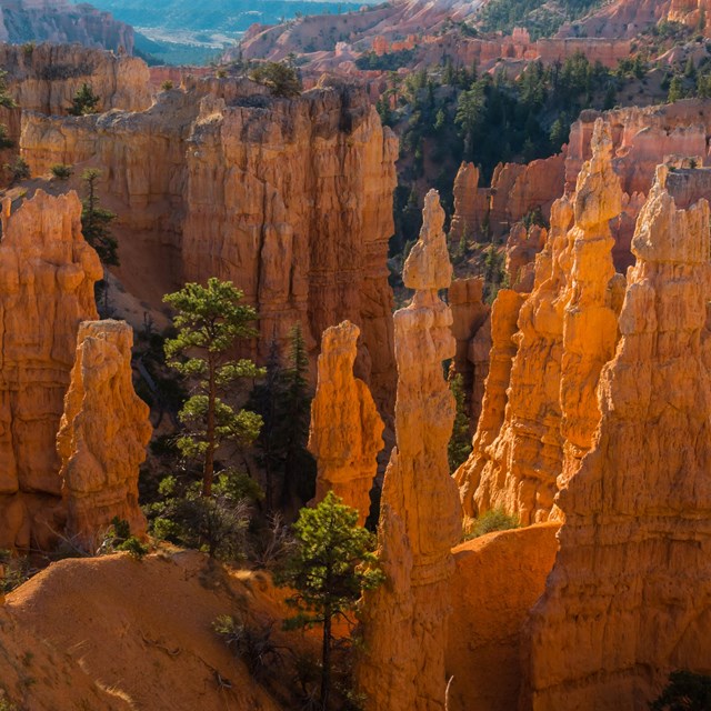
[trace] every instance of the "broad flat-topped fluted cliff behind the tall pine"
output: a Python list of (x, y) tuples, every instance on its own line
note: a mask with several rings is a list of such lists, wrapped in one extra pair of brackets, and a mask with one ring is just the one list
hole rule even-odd
[(130, 233), (119, 273), (139, 299), (158, 308), (182, 280), (230, 279), (259, 308), (259, 358), (297, 322), (316, 356), (323, 330), (349, 319), (363, 341), (358, 373), (391, 412), (397, 140), (352, 87), (267, 94), (212, 78), (140, 113), (28, 114), (22, 150), (33, 172), (110, 167), (102, 192)]

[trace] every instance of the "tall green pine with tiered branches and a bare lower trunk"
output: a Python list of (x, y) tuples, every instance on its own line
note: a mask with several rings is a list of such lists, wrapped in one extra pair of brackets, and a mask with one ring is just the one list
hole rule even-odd
[(179, 413), (186, 432), (178, 440), (184, 457), (202, 460), (202, 495), (212, 494), (214, 455), (223, 442), (251, 443), (262, 420), (254, 412), (236, 410), (224, 397), (242, 378), (257, 378), (263, 371), (251, 360), (233, 360), (239, 339), (252, 338), (250, 326), (257, 319), (252, 307), (241, 303), (242, 291), (231, 281), (211, 277), (207, 287), (187, 283), (163, 297), (178, 312), (176, 338), (166, 341), (168, 364), (197, 380), (194, 394)]

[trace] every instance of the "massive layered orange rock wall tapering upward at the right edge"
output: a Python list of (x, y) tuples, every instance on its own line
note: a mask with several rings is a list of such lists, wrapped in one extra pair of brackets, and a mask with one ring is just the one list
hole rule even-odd
[(664, 170), (632, 241), (594, 447), (560, 494), (522, 709), (642, 709), (671, 670), (711, 672), (709, 206), (678, 210)]

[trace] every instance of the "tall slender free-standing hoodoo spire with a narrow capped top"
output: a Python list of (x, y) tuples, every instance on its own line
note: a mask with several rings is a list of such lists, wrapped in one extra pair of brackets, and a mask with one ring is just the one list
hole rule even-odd
[(447, 444), (454, 402), (442, 361), (454, 356), (452, 316), (438, 291), (452, 267), (435, 191), (424, 200), (420, 240), (405, 262), (412, 303), (394, 316), (397, 448), (381, 499), (380, 557), (385, 582), (363, 603), (358, 680), (367, 709), (433, 711), (444, 707), (444, 652), (451, 612), (451, 547), (460, 538), (457, 487)]

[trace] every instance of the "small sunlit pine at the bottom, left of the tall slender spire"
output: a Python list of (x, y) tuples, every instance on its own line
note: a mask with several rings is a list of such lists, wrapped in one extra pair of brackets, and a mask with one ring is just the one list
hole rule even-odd
[(302, 509), (293, 527), (296, 553), (277, 577), (294, 592), (287, 599), (297, 614), (287, 621), (292, 629), (322, 625), (321, 709), (331, 693), (332, 624), (346, 617), (364, 590), (383, 580), (375, 567), (375, 538), (358, 525), (358, 511), (332, 491), (313, 509)]

